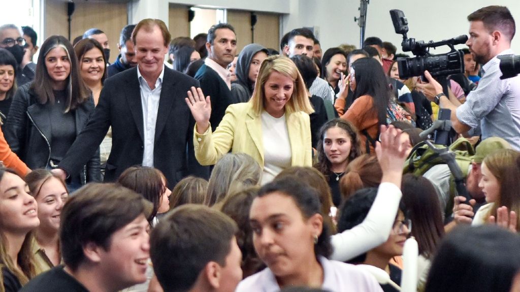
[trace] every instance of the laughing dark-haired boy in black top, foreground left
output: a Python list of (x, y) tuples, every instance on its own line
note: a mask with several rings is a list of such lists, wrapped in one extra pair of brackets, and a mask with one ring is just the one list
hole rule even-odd
[(61, 211), (64, 266), (33, 278), (22, 291), (115, 292), (145, 282), (151, 203), (114, 183), (76, 191)]

